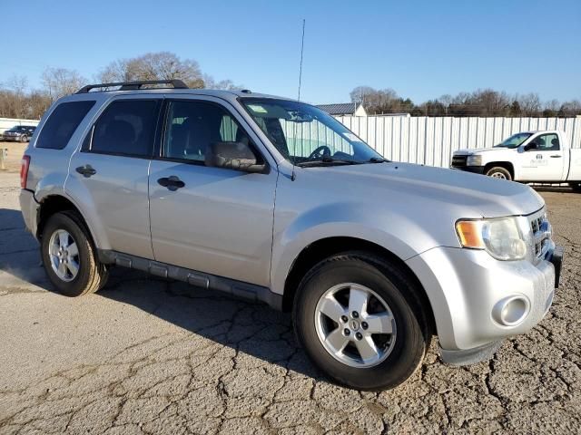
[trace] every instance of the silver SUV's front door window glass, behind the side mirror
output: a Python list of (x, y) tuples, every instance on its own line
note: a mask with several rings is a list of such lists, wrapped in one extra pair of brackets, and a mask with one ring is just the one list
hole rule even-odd
[(230, 113), (211, 102), (170, 102), (165, 126), (162, 157), (166, 159), (203, 162), (212, 143), (250, 143)]

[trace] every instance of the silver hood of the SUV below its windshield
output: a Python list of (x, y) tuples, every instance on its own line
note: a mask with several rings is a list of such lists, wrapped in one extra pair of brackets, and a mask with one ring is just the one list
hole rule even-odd
[(455, 169), (389, 162), (315, 170), (356, 198), (422, 201), (426, 213), (444, 207), (458, 218), (528, 215), (545, 204), (527, 185)]

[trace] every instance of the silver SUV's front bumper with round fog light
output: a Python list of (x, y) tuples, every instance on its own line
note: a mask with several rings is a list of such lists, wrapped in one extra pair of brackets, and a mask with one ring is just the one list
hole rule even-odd
[(554, 246), (536, 265), (455, 247), (410, 258), (434, 312), (443, 359), (482, 361), (497, 342), (538, 324), (552, 304), (561, 258), (562, 249)]

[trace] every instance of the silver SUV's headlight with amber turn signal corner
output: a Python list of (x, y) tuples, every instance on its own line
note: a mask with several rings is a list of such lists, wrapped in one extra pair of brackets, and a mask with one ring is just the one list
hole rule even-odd
[(516, 218), (458, 220), (456, 232), (463, 247), (484, 249), (497, 260), (522, 260), (527, 243)]

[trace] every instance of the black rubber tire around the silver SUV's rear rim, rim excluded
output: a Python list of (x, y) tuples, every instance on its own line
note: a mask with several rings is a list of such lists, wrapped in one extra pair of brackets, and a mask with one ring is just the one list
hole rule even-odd
[[(49, 256), (50, 238), (55, 231), (64, 229), (73, 238), (78, 248), (79, 269), (72, 281), (64, 281), (53, 270)], [(44, 270), (57, 291), (67, 296), (94, 293), (106, 284), (109, 273), (96, 255), (93, 240), (82, 218), (73, 211), (64, 211), (51, 216), (43, 229), (41, 256)]]

